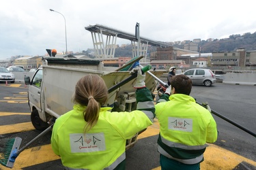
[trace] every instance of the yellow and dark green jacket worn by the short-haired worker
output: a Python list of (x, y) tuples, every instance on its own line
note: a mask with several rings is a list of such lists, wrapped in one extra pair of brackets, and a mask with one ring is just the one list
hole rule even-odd
[[(163, 101), (166, 97), (161, 96)], [(160, 123), (158, 152), (185, 164), (203, 161), (206, 142), (217, 139), (216, 122), (208, 109), (188, 95), (174, 94), (156, 104)]]

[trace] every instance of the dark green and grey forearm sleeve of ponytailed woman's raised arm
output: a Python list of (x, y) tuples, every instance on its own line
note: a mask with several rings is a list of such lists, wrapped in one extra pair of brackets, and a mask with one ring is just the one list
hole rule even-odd
[(137, 88), (136, 91), (137, 110), (142, 111), (153, 122), (155, 118), (155, 107), (150, 90), (145, 88)]

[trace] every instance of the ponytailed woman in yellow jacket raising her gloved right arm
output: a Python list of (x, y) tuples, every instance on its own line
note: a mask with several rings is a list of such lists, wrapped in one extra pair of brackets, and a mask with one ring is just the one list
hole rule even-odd
[(137, 110), (109, 112), (102, 107), (108, 89), (100, 76), (85, 75), (77, 82), (74, 109), (55, 121), (51, 146), (66, 169), (125, 169), (126, 139), (152, 125), (155, 117), (145, 74), (137, 67)]

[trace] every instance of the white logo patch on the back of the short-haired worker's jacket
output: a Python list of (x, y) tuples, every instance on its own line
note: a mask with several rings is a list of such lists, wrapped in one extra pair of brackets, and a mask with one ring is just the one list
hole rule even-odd
[(193, 131), (193, 120), (188, 118), (168, 118), (168, 129), (174, 131)]

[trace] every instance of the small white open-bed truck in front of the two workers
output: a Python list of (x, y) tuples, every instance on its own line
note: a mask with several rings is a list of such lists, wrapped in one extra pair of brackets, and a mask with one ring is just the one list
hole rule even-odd
[[(58, 118), (70, 111), (73, 107), (71, 101), (76, 82), (87, 74), (98, 74), (103, 78), (109, 89), (107, 105), (113, 107), (112, 111), (130, 112), (136, 109), (135, 88), (132, 87), (135, 79), (126, 84), (124, 80), (130, 78), (129, 71), (115, 71), (117, 67), (104, 67), (102, 61), (78, 58), (42, 58), (33, 78), (25, 77), (25, 84), (29, 84), (29, 107), (31, 122), (35, 129), (46, 129), (51, 118)], [(165, 71), (150, 71), (160, 77)], [(121, 84), (121, 86), (119, 85)], [(156, 80), (146, 73), (145, 85), (152, 93), (156, 87)], [(126, 149), (134, 146), (137, 134), (127, 141)]]

